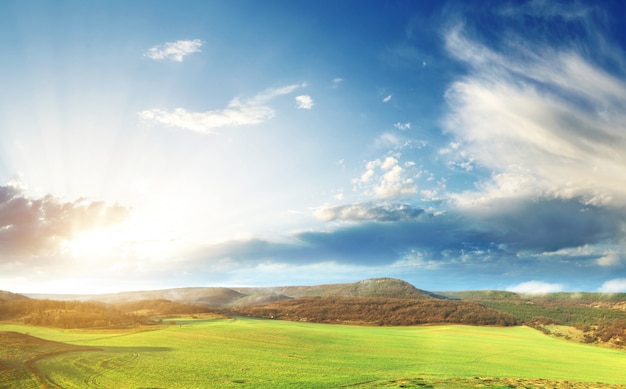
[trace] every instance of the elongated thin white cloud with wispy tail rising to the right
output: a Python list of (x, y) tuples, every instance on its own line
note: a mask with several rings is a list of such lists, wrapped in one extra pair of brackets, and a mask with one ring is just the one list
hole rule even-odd
[(213, 111), (190, 112), (184, 108), (176, 108), (173, 111), (149, 109), (140, 112), (139, 117), (142, 120), (169, 127), (213, 134), (216, 128), (258, 124), (272, 119), (275, 112), (265, 104), (277, 96), (290, 94), (304, 86), (305, 84), (293, 84), (268, 89), (246, 101), (235, 98), (228, 103), (226, 108)]

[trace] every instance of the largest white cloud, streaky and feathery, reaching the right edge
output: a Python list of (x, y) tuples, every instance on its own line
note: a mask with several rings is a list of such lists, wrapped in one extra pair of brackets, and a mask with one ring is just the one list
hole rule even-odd
[(494, 171), (482, 185), (491, 192), (480, 196), (515, 193), (493, 190), (504, 175), (523, 177), (535, 195), (626, 204), (622, 77), (571, 49), (518, 42), (514, 53), (497, 52), (468, 39), (462, 26), (446, 34), (446, 47), (471, 69), (446, 92), (445, 127), (460, 144), (446, 151)]

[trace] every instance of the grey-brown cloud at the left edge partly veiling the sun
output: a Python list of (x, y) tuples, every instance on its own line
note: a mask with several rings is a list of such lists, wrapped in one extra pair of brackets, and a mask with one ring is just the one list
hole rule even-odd
[(65, 240), (117, 225), (129, 216), (129, 210), (119, 205), (85, 199), (62, 202), (52, 195), (33, 199), (17, 186), (0, 186), (0, 253), (51, 254)]

